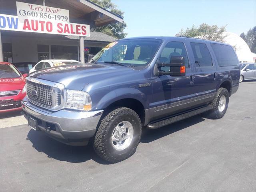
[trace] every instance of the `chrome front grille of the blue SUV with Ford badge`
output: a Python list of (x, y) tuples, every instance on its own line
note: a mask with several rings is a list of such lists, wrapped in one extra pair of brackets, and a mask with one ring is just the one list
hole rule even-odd
[(58, 108), (62, 104), (61, 90), (46, 84), (26, 80), (28, 99), (44, 108)]

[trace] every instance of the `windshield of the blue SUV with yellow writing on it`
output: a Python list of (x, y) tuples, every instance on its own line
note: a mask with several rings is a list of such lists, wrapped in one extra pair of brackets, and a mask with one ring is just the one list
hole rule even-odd
[(90, 62), (110, 62), (112, 64), (146, 66), (152, 60), (161, 40), (130, 39), (108, 44)]

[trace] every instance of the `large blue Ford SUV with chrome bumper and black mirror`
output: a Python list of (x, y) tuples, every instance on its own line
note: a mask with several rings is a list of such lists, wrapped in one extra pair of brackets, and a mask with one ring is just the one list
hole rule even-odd
[(209, 111), (222, 118), (238, 90), (232, 46), (182, 37), (127, 38), (89, 63), (47, 68), (26, 78), (28, 125), (70, 145), (92, 140), (109, 162), (130, 157), (142, 128)]

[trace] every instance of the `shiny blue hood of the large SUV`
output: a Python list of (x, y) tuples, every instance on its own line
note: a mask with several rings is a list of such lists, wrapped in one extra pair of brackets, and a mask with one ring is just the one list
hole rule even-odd
[(33, 72), (29, 76), (64, 84), (67, 89), (82, 90), (84, 86), (97, 80), (132, 72), (134, 69), (126, 66), (86, 63), (51, 67)]

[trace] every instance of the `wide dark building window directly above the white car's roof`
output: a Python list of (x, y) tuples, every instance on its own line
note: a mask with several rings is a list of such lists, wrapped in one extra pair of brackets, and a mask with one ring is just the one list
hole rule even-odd
[(77, 46), (52, 45), (51, 54), (52, 59), (77, 60), (78, 58)]

